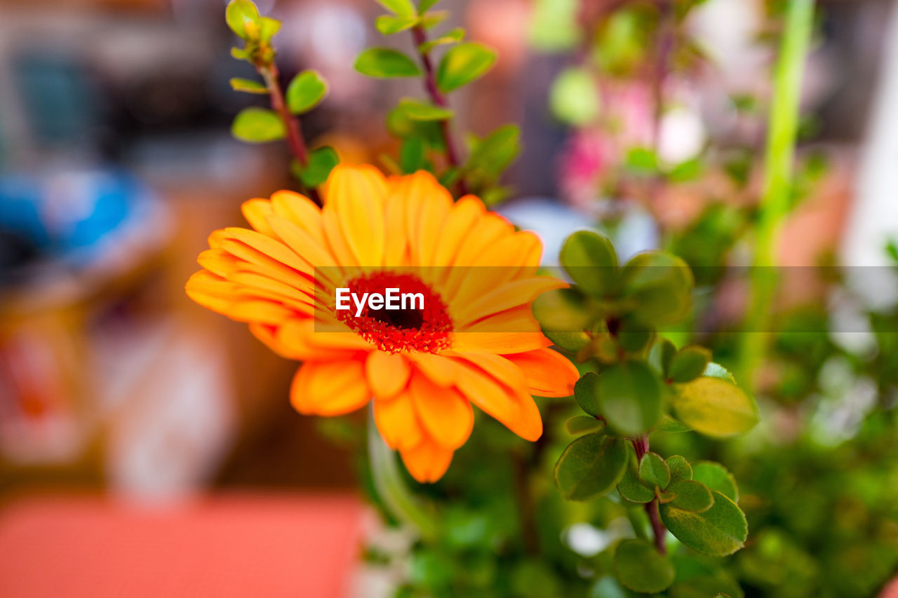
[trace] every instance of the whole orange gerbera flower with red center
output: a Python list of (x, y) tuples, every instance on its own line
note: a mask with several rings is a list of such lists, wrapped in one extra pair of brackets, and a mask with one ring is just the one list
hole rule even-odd
[[(254, 230), (212, 233), (188, 295), (304, 362), (290, 391), (300, 413), (341, 415), (373, 399), (383, 440), (419, 481), (441, 478), (471, 435), (471, 403), (539, 438), (531, 395), (568, 396), (577, 380), (531, 313), (537, 295), (565, 286), (536, 276), (539, 238), (479, 198), (453, 203), (424, 171), (385, 179), (339, 165), (323, 195), (323, 208), (290, 191), (245, 202)], [(501, 268), (474, 274), (480, 266)], [(401, 288), (424, 309), (341, 312), (340, 287)]]

